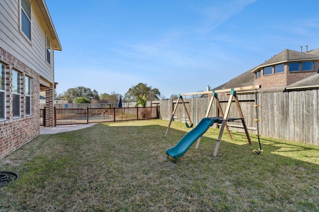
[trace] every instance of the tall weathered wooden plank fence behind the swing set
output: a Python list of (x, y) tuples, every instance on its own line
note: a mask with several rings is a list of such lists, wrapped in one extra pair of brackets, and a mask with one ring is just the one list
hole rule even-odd
[[(240, 94), (237, 97), (245, 117), (250, 134), (256, 132), (255, 94)], [(259, 134), (264, 137), (300, 141), (319, 145), (319, 90), (291, 91), (283, 93), (258, 93)], [(225, 111), (229, 96), (218, 97), (222, 110)], [(210, 98), (184, 98), (187, 111), (195, 125), (205, 117)], [(174, 101), (160, 101), (160, 118), (170, 120)], [(213, 104), (209, 117), (219, 116), (217, 106)], [(174, 121), (187, 122), (185, 110), (178, 106)], [(235, 104), (231, 105), (228, 117), (238, 118)], [(229, 123), (230, 130), (242, 132), (242, 124)], [(214, 127), (218, 127), (217, 124)]]

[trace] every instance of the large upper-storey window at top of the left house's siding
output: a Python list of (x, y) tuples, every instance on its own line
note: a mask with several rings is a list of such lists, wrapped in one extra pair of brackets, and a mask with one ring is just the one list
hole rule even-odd
[(20, 26), (22, 32), (31, 41), (31, 2), (29, 0), (21, 0), (21, 20)]

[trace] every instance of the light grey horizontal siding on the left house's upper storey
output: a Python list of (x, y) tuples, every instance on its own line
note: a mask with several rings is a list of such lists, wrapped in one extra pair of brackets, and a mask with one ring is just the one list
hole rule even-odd
[[(32, 5), (32, 2), (31, 2)], [(46, 63), (44, 27), (32, 7), (32, 34), (28, 41), (19, 27), (19, 0), (0, 1), (0, 47), (20, 62), (36, 71), (54, 84), (54, 51), (51, 49), (51, 64)]]

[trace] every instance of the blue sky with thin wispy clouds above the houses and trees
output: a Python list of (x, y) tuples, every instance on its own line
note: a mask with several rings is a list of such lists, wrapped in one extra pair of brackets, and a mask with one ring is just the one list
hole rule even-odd
[(217, 87), (284, 49), (319, 48), (318, 0), (46, 0), (57, 93)]

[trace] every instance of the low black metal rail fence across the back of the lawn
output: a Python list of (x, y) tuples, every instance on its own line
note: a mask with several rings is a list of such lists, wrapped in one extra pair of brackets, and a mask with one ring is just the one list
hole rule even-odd
[(158, 107), (54, 108), (54, 125), (89, 124), (159, 118)]

